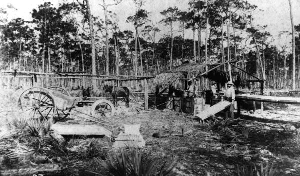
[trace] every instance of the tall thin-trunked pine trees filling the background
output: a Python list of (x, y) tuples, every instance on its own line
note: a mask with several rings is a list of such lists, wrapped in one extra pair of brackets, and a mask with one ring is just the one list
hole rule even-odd
[[(261, 79), (272, 78), (268, 86), (278, 88), (288, 88), (288, 75), (295, 76), (296, 56), (300, 70), (300, 25), (293, 24), (292, 12), (292, 33), (282, 31), (271, 36), (266, 26), (254, 26), (252, 14), (257, 7), (247, 1), (190, 0), (186, 11), (170, 4), (160, 12), (158, 23), (163, 29), (159, 29), (149, 20), (146, 1), (132, 1), (135, 12), (126, 23), (133, 31), (121, 31), (116, 12), (110, 11), (111, 6), (121, 6), (120, 0), (100, 1), (103, 17), (91, 14), (88, 0), (58, 7), (43, 3), (31, 11), (31, 21), (8, 21), (6, 10), (13, 7), (1, 8), (1, 69), (155, 75), (187, 62), (236, 60), (237, 66)], [(192, 39), (185, 37), (187, 32), (192, 33)], [(291, 41), (286, 40), (290, 35), (294, 39), (292, 50)], [(285, 78), (281, 87), (275, 85), (277, 75)]]

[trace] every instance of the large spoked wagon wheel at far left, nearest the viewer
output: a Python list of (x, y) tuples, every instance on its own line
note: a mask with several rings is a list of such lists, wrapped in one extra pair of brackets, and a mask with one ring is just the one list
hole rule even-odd
[(53, 119), (56, 106), (50, 91), (42, 87), (25, 90), (18, 99), (18, 107), (27, 118)]

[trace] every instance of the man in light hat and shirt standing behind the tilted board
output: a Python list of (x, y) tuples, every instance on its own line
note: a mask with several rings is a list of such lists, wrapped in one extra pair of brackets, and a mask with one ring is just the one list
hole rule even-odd
[(225, 119), (228, 118), (228, 114), (230, 115), (230, 118), (234, 118), (234, 100), (235, 100), (235, 93), (233, 88), (232, 81), (228, 81), (227, 83), (227, 89), (224, 93), (224, 100), (227, 100), (231, 102), (230, 106), (225, 109)]

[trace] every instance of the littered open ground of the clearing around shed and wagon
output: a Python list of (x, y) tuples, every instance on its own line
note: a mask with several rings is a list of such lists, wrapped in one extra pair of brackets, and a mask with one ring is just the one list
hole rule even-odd
[[(17, 95), (20, 93), (21, 90), (0, 90), (0, 118), (2, 121), (0, 136), (7, 133), (6, 124), (9, 119), (17, 118), (20, 115), (16, 108)], [(77, 109), (89, 112), (89, 108), (86, 106), (77, 107)], [(125, 108), (124, 103), (119, 102), (118, 107), (116, 107), (116, 115), (104, 118), (110, 122), (107, 129), (111, 130), (113, 135), (117, 135), (123, 124), (140, 124), (140, 133), (146, 141), (144, 150), (152, 153), (153, 157), (161, 159), (178, 156), (177, 165), (171, 175), (236, 175), (237, 165), (255, 164), (260, 166), (261, 162), (268, 162), (269, 165), (274, 164), (278, 170), (282, 171), (283, 175), (300, 175), (300, 136), (297, 134), (297, 128), (300, 126), (300, 106), (287, 105), (265, 111), (256, 110), (255, 113), (242, 111), (241, 115), (234, 120), (235, 127), (236, 124), (253, 125), (254, 123), (259, 123), (265, 127), (281, 126), (280, 131), (274, 132), (275, 134), (272, 133), (271, 138), (265, 137), (257, 140), (255, 136), (258, 134), (251, 132), (249, 134), (251, 137), (247, 140), (240, 138), (242, 141), (237, 142), (232, 142), (232, 138), (219, 130), (215, 130), (220, 124), (228, 124), (229, 127), (235, 129), (234, 125), (231, 125), (233, 122), (209, 121), (208, 123), (201, 123), (192, 115), (181, 112), (171, 110), (144, 111), (142, 109), (142, 102), (140, 104), (130, 102), (129, 108)], [(82, 116), (84, 117), (84, 115)], [(57, 123), (93, 124), (91, 121), (72, 115)], [(292, 136), (284, 136), (286, 131), (290, 131), (287, 128), (291, 129), (292, 132), (288, 135)], [(166, 138), (152, 137), (154, 132), (161, 130), (170, 131), (171, 135)], [(266, 132), (265, 136), (268, 134)], [(104, 148), (109, 149), (112, 143), (103, 142), (102, 144)], [(233, 143), (237, 143), (236, 147), (232, 147)], [(3, 155), (0, 152), (0, 156), (1, 154)], [(60, 158), (58, 156), (51, 155), (51, 157), (64, 168), (65, 174), (88, 175), (89, 173), (84, 170), (101, 172), (91, 162), (92, 158), (60, 160), (57, 159)], [(15, 168), (25, 166), (28, 166), (27, 162), (14, 165)], [(7, 167), (2, 162), (0, 168)], [(73, 168), (76, 168), (76, 171)]]

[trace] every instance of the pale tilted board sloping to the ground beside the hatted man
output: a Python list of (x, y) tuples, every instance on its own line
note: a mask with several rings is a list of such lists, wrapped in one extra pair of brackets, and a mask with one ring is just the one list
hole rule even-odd
[(229, 101), (220, 101), (218, 103), (216, 103), (215, 105), (209, 107), (208, 109), (196, 114), (195, 116), (199, 117), (200, 119), (204, 120), (218, 112), (220, 112), (221, 110), (224, 110), (226, 107), (230, 106), (230, 102)]

